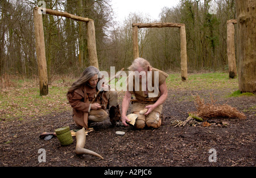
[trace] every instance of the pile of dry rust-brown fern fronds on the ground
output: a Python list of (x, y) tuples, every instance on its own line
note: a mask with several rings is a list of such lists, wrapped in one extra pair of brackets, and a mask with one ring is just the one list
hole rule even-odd
[(210, 94), (211, 102), (209, 104), (204, 103), (204, 99), (201, 99), (198, 94), (195, 98), (195, 106), (197, 111), (196, 115), (202, 118), (213, 118), (213, 117), (228, 117), (228, 118), (240, 118), (246, 119), (245, 114), (240, 113), (236, 108), (227, 104), (215, 104), (212, 94)]

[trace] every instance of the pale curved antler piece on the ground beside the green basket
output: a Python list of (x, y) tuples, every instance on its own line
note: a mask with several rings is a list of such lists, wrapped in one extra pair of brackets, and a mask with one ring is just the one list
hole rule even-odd
[(86, 140), (86, 134), (85, 134), (85, 129), (83, 127), (82, 129), (76, 132), (76, 150), (75, 150), (76, 154), (77, 155), (82, 155), (82, 154), (93, 155), (93, 156), (98, 156), (101, 159), (104, 159), (101, 155), (97, 154), (96, 152), (90, 151), (84, 148), (85, 140)]

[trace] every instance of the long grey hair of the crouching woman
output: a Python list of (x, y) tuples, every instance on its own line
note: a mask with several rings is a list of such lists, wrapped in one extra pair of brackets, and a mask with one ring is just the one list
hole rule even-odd
[(72, 85), (71, 88), (68, 89), (68, 93), (72, 93), (76, 89), (79, 89), (82, 85), (85, 85), (90, 78), (95, 76), (95, 74), (98, 74), (100, 71), (94, 67), (94, 66), (89, 66), (82, 72), (81, 76), (75, 81)]

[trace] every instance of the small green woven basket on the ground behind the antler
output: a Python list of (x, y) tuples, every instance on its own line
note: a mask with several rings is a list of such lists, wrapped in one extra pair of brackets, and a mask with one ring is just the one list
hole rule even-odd
[(62, 146), (66, 146), (73, 143), (73, 138), (68, 126), (56, 129), (55, 133), (57, 135), (57, 139), (60, 141), (60, 144)]

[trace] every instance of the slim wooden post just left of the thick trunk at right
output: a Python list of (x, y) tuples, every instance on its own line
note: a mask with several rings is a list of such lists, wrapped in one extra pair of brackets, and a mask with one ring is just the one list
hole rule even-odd
[(234, 47), (234, 24), (227, 22), (226, 53), (229, 63), (229, 78), (237, 76), (236, 55)]

